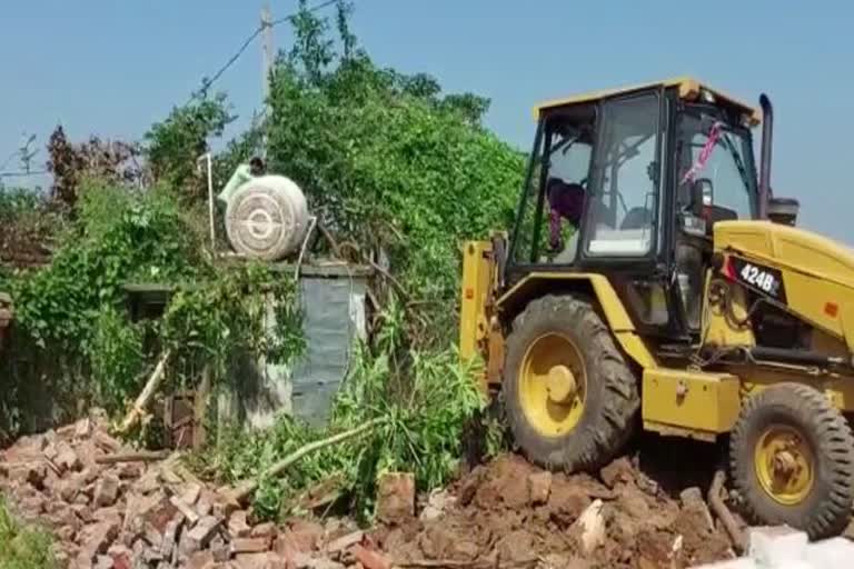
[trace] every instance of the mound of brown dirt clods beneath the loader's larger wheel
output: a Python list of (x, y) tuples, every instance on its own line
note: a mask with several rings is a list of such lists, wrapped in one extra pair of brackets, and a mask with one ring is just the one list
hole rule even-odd
[(433, 495), (419, 520), (375, 537), (416, 566), (671, 568), (735, 557), (698, 488), (672, 498), (627, 459), (595, 479), (502, 457)]

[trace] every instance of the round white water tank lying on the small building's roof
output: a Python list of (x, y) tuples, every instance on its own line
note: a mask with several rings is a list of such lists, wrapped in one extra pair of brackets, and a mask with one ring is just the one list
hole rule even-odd
[(238, 253), (278, 261), (297, 251), (308, 229), (306, 196), (284, 176), (260, 176), (228, 199), (226, 231)]

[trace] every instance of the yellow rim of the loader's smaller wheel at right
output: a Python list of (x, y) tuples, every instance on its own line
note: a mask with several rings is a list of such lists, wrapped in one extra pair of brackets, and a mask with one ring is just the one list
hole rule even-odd
[(813, 489), (813, 452), (791, 427), (768, 427), (756, 443), (754, 463), (763, 490), (778, 503), (801, 503)]

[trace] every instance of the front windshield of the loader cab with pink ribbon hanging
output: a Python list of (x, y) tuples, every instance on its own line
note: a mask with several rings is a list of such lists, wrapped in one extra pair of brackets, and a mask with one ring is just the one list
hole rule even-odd
[(751, 138), (708, 116), (682, 116), (679, 201), (687, 203), (693, 180), (712, 182), (711, 203), (734, 211), (738, 219), (754, 219), (756, 179)]

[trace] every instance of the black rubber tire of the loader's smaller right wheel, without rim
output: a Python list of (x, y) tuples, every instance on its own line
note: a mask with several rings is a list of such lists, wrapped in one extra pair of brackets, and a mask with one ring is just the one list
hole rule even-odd
[[(816, 462), (812, 491), (797, 505), (775, 501), (756, 476), (755, 447), (774, 423), (800, 432)], [(854, 436), (820, 391), (778, 383), (747, 399), (729, 438), (729, 466), (733, 485), (753, 521), (786, 523), (811, 539), (837, 536), (846, 528), (854, 500)]]

